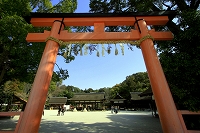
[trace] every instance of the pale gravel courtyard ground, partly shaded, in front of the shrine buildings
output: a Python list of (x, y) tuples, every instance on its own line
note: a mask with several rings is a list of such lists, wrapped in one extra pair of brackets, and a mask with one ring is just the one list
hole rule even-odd
[[(0, 130), (14, 130), (18, 118), (0, 119)], [(57, 110), (45, 110), (39, 133), (162, 133), (162, 128), (150, 111), (67, 111), (57, 116)]]

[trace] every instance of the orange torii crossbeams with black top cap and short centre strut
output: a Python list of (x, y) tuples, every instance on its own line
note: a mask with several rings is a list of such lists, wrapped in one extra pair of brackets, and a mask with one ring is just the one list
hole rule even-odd
[[(130, 32), (105, 32), (105, 26), (134, 26), (137, 20), (144, 19), (147, 25), (166, 25), (175, 16), (174, 11), (160, 11), (149, 13), (32, 13), (27, 18), (28, 22), (36, 27), (52, 26), (55, 21), (62, 21), (65, 26), (94, 26), (94, 32), (70, 33), (67, 30), (60, 32), (59, 40), (62, 41), (105, 41), (105, 40), (139, 40), (139, 30), (131, 29)], [(172, 40), (171, 32), (158, 32), (149, 30), (154, 40)], [(49, 37), (50, 31), (44, 33), (29, 33), (28, 42), (44, 42)]]

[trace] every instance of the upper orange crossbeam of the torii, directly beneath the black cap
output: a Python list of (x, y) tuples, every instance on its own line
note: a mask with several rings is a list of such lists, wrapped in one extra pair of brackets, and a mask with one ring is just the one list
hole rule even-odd
[[(147, 25), (165, 25), (168, 16), (138, 16), (136, 19), (144, 19)], [(65, 26), (94, 26), (94, 23), (105, 23), (105, 26), (133, 26), (135, 17), (85, 17), (64, 18)], [(55, 20), (62, 18), (31, 18), (31, 24), (35, 27), (52, 26)]]

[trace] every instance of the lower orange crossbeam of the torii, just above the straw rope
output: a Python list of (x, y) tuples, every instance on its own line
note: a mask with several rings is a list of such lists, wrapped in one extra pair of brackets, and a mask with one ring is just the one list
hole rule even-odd
[[(149, 34), (156, 41), (172, 40), (171, 32), (149, 32)], [(45, 42), (49, 37), (50, 32), (44, 33), (28, 33), (26, 40), (28, 42)], [(131, 32), (86, 32), (86, 33), (69, 33), (68, 31), (61, 31), (60, 40), (62, 41), (119, 41), (119, 40), (139, 40), (139, 32), (132, 30)]]

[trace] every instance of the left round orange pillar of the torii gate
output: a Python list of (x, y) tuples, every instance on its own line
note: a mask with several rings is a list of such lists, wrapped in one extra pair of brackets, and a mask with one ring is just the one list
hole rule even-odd
[[(61, 25), (61, 22), (58, 21), (53, 23), (50, 33), (51, 37), (59, 38), (58, 32)], [(63, 28), (64, 26), (62, 25)], [(47, 41), (26, 108), (20, 123), (18, 123), (19, 129), (15, 132), (38, 132), (58, 49), (59, 44), (57, 42)]]

